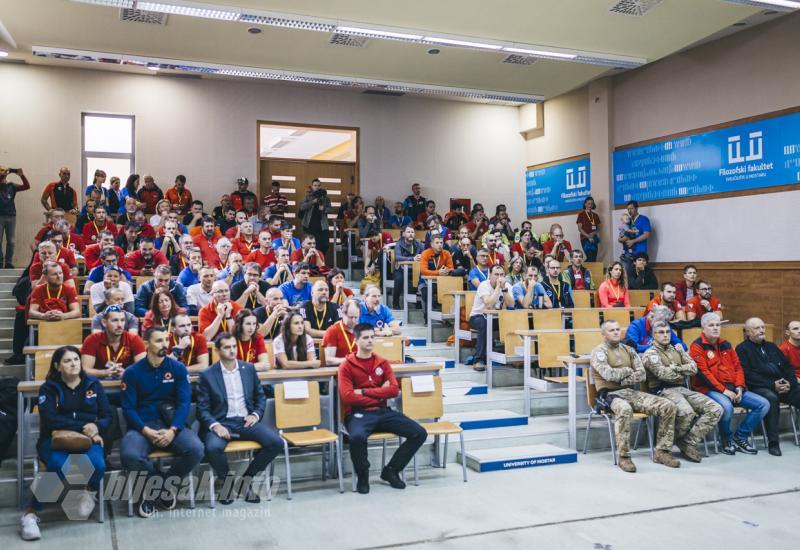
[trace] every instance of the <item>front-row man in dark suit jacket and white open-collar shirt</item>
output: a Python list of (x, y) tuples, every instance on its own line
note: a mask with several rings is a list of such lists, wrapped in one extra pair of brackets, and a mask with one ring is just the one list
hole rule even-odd
[(221, 332), (215, 346), (220, 360), (200, 373), (197, 387), (197, 414), (201, 433), (205, 433), (206, 457), (225, 488), (220, 504), (233, 502), (233, 479), (228, 479), (225, 447), (231, 439), (255, 441), (261, 449), (242, 475), (244, 499), (261, 502), (251, 489), (253, 478), (283, 451), (283, 440), (260, 421), (264, 417), (267, 398), (252, 363), (236, 359), (236, 338)]

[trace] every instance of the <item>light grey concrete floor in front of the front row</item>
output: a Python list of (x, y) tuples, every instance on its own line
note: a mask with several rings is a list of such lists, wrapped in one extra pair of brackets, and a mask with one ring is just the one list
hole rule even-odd
[(677, 470), (638, 451), (633, 475), (596, 452), (578, 464), (470, 471), (468, 483), (451, 464), (423, 470), (405, 491), (374, 475), (367, 496), (307, 482), (291, 502), (281, 491), (262, 505), (198, 503), (149, 520), (126, 517), (118, 502), (104, 524), (67, 521), (51, 507), (33, 543), (19, 539), (18, 513), (5, 508), (0, 548), (797, 548), (800, 449), (784, 440), (783, 451), (712, 455)]

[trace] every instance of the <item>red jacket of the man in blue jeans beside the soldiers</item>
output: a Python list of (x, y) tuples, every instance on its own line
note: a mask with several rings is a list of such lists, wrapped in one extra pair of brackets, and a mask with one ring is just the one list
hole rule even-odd
[(692, 387), (700, 393), (725, 390), (736, 391), (745, 387), (744, 370), (736, 350), (722, 338), (710, 344), (704, 334), (692, 342), (689, 355), (697, 363), (697, 374), (692, 378)]

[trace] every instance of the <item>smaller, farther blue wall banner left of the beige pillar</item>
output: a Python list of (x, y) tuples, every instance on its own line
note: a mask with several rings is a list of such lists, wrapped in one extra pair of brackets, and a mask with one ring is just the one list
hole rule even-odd
[(591, 194), (589, 156), (525, 172), (528, 216), (580, 210)]

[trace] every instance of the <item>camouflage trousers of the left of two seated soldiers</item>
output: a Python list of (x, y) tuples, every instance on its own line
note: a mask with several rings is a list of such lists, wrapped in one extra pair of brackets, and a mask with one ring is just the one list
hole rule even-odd
[[(658, 418), (656, 449), (671, 451), (675, 439), (675, 405), (669, 399), (631, 389), (608, 393), (614, 396), (611, 412), (614, 413), (614, 431), (617, 435), (617, 455), (630, 456), (631, 419), (633, 413), (643, 413)], [(643, 420), (644, 422), (644, 420)]]

